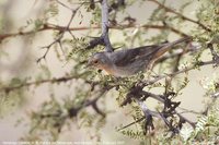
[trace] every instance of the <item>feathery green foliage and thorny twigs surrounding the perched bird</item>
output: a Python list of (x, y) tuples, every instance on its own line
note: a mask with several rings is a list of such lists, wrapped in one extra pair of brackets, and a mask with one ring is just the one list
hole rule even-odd
[[(168, 4), (170, 3), (168, 1), (108, 0), (110, 39), (114, 39), (111, 40), (113, 47), (161, 44), (166, 40), (172, 41), (173, 36), (193, 37), (192, 43), (174, 46), (157, 61), (153, 68), (155, 76), (149, 71), (119, 78), (106, 75), (100, 70), (84, 69), (92, 53), (104, 51), (101, 35), (101, 3), (92, 3), (92, 0), (80, 0), (77, 4), (70, 0), (66, 3), (58, 0), (46, 1), (43, 14), (27, 21), (26, 26), (21, 27), (18, 34), (0, 34), (3, 46), (13, 36), (27, 35), (35, 39), (39, 32), (53, 32), (49, 34), (53, 40), (46, 45), (42, 44), (43, 49), (38, 50), (44, 52), (37, 57), (36, 73), (13, 74), (11, 80), (3, 80), (0, 75), (0, 116), (3, 117), (8, 112), (15, 111), (23, 104), (27, 104), (27, 96), (34, 96), (38, 87), (46, 85), (49, 93), (45, 93), (44, 97), (49, 96), (49, 100), (27, 114), (31, 121), (30, 131), (21, 138), (22, 141), (58, 141), (65, 128), (69, 129), (72, 124), (78, 124), (79, 130), (84, 128), (92, 130), (94, 135), (90, 135), (90, 138), (101, 142), (101, 132), (107, 123), (107, 116), (112, 113), (107, 110), (105, 101), (107, 96), (115, 96), (111, 99), (117, 101), (119, 109), (129, 109), (130, 112), (127, 116), (129, 120), (134, 120), (128, 125), (123, 123), (116, 126), (116, 130), (125, 136), (138, 140), (139, 144), (201, 142), (217, 144), (219, 142), (218, 75), (201, 82), (206, 89), (206, 108), (204, 112), (198, 113), (197, 122), (192, 122), (180, 113), (181, 102), (175, 98), (188, 87), (191, 70), (198, 70), (209, 64), (218, 67), (219, 2), (191, 0), (175, 9)], [(128, 9), (135, 4), (147, 7), (149, 2), (155, 7), (148, 22), (139, 25), (138, 17), (134, 17)], [(194, 3), (198, 7), (195, 10), (196, 17), (193, 20), (184, 13), (188, 11), (187, 7)], [(65, 26), (58, 25), (58, 16), (62, 9), (70, 13)], [(87, 20), (90, 22), (88, 27), (81, 26), (85, 14), (92, 16)], [(74, 21), (76, 17), (79, 17), (77, 19), (79, 22)], [(1, 19), (0, 27), (3, 27), (3, 22), (4, 20)], [(188, 24), (193, 25), (187, 28)], [(151, 28), (157, 28), (157, 33), (150, 36), (148, 34)], [(83, 36), (78, 36), (74, 31), (88, 32)], [(123, 41), (116, 40), (117, 34), (122, 35)], [(210, 61), (205, 57), (206, 52), (210, 56)], [(51, 59), (50, 53), (61, 63), (59, 69), (70, 65), (71, 69), (62, 71), (62, 76), (54, 75), (53, 67), (49, 63), (45, 64), (47, 59)], [(10, 60), (10, 53), (3, 48), (0, 48), (1, 56)], [(22, 71), (31, 69), (31, 67), (23, 68)], [(59, 87), (65, 87), (67, 90), (61, 97), (56, 92)], [(153, 93), (157, 88), (161, 92)], [(143, 108), (141, 102), (146, 104), (149, 98), (158, 101), (158, 106)], [(11, 110), (10, 106), (15, 106), (15, 108)]]

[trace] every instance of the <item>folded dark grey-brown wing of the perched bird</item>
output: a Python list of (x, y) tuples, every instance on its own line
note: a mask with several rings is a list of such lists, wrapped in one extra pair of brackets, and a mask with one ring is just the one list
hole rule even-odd
[(151, 59), (152, 53), (155, 53), (163, 45), (143, 46), (134, 49), (124, 49), (114, 51), (112, 55), (113, 63), (117, 67), (125, 67), (135, 62), (137, 59), (146, 58)]

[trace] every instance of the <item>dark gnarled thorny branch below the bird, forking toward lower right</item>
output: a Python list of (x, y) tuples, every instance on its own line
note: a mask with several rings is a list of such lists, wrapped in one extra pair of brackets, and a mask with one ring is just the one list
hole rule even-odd
[[(127, 94), (126, 96), (126, 99), (124, 100), (124, 102), (122, 104), (122, 106), (125, 106), (127, 104), (130, 104), (131, 99), (137, 99), (138, 104), (140, 105), (141, 109), (143, 110), (143, 112), (150, 112), (150, 110), (146, 107), (146, 105), (142, 102), (142, 100), (147, 99), (148, 97), (151, 97), (160, 102), (162, 102), (164, 105), (164, 108), (170, 108), (168, 109), (168, 112), (161, 112), (160, 113), (160, 117), (165, 123), (166, 125), (170, 128), (171, 131), (173, 131), (173, 133), (177, 133), (178, 129), (177, 128), (181, 128), (182, 126), (182, 123), (184, 122), (187, 122), (188, 124), (191, 124), (193, 128), (195, 128), (195, 122), (192, 122), (191, 120), (188, 120), (187, 118), (183, 117), (181, 113), (178, 113), (175, 109), (176, 107), (178, 107), (178, 102), (173, 102), (171, 101), (170, 99), (168, 99), (169, 101), (166, 101), (164, 98), (164, 96), (160, 96), (160, 95), (155, 95), (155, 94), (152, 94), (152, 93), (148, 93), (148, 92), (145, 92), (142, 90), (145, 86), (147, 85), (151, 85), (162, 78), (165, 78), (168, 76), (175, 76), (177, 74), (181, 74), (181, 73), (184, 73), (184, 72), (188, 72), (197, 67), (204, 67), (204, 65), (208, 65), (208, 64), (214, 64), (216, 63), (215, 61), (206, 61), (206, 62), (199, 62), (198, 64), (196, 65), (192, 65), (189, 68), (185, 68), (183, 70), (180, 70), (177, 72), (174, 72), (170, 75), (162, 75), (162, 76), (158, 76), (157, 78), (152, 80), (152, 81), (146, 81), (146, 82), (140, 82), (140, 83), (137, 83), (137, 85), (135, 85), (132, 88), (130, 88), (130, 92)], [(141, 98), (142, 97), (142, 98)], [(170, 112), (169, 112), (170, 111)], [(146, 114), (145, 112), (145, 114)], [(176, 114), (178, 118), (180, 118), (180, 121), (178, 121), (178, 126), (174, 128), (172, 125), (172, 122), (168, 121), (166, 118), (169, 117), (169, 113), (172, 116), (172, 114)], [(153, 112), (153, 113), (150, 113), (151, 117), (154, 116), (154, 117), (158, 117), (158, 112)], [(124, 130), (132, 124), (136, 124), (140, 121), (142, 121), (143, 119), (146, 119), (145, 117), (143, 118), (140, 118), (139, 120), (136, 120), (135, 122), (131, 122), (120, 129), (118, 129), (118, 131), (120, 130)]]

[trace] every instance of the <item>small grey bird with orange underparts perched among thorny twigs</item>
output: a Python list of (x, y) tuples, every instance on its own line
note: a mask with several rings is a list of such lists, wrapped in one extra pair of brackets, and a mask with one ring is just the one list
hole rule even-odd
[(95, 67), (117, 77), (135, 75), (140, 71), (152, 69), (154, 62), (174, 45), (189, 39), (191, 37), (183, 37), (175, 41), (160, 45), (122, 49), (112, 52), (95, 52), (89, 58), (87, 67)]

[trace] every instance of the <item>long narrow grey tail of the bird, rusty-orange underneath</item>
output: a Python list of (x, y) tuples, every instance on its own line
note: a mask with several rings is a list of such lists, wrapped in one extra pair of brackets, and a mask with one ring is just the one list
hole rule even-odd
[(181, 44), (183, 41), (189, 41), (192, 39), (192, 37), (184, 37), (184, 38), (181, 38), (181, 39), (177, 39), (175, 41), (172, 41), (172, 43), (168, 43), (168, 44), (164, 44), (160, 47), (160, 49), (155, 52), (154, 55), (154, 59), (157, 58), (160, 58), (163, 53), (165, 53), (166, 51), (169, 51), (173, 46), (177, 45), (177, 44)]

